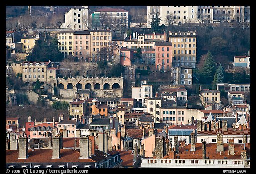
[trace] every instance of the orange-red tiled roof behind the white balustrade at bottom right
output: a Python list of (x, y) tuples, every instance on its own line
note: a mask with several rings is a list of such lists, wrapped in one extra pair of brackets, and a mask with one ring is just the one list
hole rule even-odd
[[(250, 143), (247, 143), (245, 145), (247, 150), (247, 155), (250, 155)], [(228, 144), (223, 144), (224, 152), (216, 152), (217, 149), (217, 143), (207, 143), (206, 144), (206, 156), (209, 157), (209, 159), (224, 159), (224, 157), (227, 157), (227, 159), (241, 159), (241, 149), (244, 148), (244, 144), (234, 144), (235, 145), (235, 155), (228, 155)], [(195, 144), (195, 152), (190, 151), (191, 144), (188, 144), (184, 147), (181, 147), (179, 149), (179, 154), (176, 154), (177, 156), (180, 156), (180, 159), (202, 159), (202, 143), (196, 143)], [(187, 150), (187, 151), (186, 151)], [(165, 156), (164, 158), (169, 158), (169, 155)]]

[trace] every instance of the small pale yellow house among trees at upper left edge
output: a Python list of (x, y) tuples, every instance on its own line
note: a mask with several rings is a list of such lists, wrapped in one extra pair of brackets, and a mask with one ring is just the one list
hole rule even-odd
[(21, 38), (22, 43), (22, 52), (23, 53), (30, 53), (32, 48), (36, 46), (36, 40), (40, 39), (40, 35), (36, 34), (36, 36), (23, 36)]

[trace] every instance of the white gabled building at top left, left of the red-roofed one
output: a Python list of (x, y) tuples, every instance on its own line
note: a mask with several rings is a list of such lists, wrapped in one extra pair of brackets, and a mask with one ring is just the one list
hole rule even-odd
[(65, 13), (65, 23), (60, 28), (88, 30), (88, 6), (74, 6)]

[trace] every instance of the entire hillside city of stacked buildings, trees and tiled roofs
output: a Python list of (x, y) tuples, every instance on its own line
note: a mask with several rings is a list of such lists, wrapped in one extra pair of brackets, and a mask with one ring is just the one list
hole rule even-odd
[(249, 170), (250, 6), (6, 6), (5, 114), (6, 169)]

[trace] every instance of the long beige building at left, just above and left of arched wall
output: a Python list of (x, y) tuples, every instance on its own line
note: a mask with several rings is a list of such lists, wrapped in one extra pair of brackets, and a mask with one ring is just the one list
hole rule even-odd
[(41, 83), (47, 83), (58, 76), (59, 65), (56, 62), (23, 62), (21, 66), (24, 83), (34, 84), (37, 79)]

